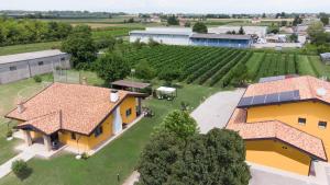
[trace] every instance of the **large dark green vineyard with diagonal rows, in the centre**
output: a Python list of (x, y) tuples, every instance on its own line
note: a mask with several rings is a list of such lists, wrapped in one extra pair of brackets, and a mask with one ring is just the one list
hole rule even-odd
[(157, 46), (129, 53), (129, 61), (147, 60), (161, 74), (176, 70), (179, 81), (227, 86), (244, 70), (252, 51), (217, 47)]

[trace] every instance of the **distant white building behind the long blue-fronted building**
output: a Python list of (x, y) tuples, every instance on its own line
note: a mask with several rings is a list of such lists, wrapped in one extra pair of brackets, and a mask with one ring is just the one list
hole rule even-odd
[[(223, 25), (218, 27), (209, 27), (208, 33), (213, 34), (227, 34), (228, 32), (235, 31), (239, 33), (241, 26), (231, 26), (231, 25)], [(267, 34), (267, 26), (243, 26), (245, 35), (256, 35), (260, 38), (264, 38)]]

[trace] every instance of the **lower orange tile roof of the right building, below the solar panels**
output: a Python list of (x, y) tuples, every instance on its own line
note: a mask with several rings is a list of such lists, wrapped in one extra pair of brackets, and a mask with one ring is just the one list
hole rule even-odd
[(298, 130), (279, 120), (245, 123), (246, 111), (237, 108), (230, 118), (227, 129), (239, 131), (244, 140), (278, 139), (294, 146), (314, 157), (327, 161), (322, 140)]

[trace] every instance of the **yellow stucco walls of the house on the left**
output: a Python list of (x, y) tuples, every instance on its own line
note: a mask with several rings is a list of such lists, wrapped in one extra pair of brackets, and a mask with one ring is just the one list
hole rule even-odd
[[(125, 111), (132, 108), (132, 114), (127, 117)], [(123, 123), (131, 123), (136, 118), (135, 114), (135, 97), (127, 97), (121, 104), (120, 104), (120, 113), (122, 116)], [(70, 147), (78, 148), (80, 152), (88, 151), (90, 149), (94, 149), (98, 144), (102, 143), (102, 141), (106, 141), (110, 137), (113, 136), (112, 130), (112, 123), (113, 123), (113, 115), (111, 114), (100, 126), (102, 127), (103, 132), (99, 135), (98, 137), (95, 137), (95, 134), (91, 134), (90, 136), (79, 135), (76, 134), (76, 140), (72, 139), (70, 131), (61, 131), (58, 135), (59, 141), (63, 143), (66, 143)]]

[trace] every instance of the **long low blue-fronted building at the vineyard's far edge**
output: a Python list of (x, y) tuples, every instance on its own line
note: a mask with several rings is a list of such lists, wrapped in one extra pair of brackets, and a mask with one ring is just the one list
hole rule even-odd
[(195, 46), (248, 48), (252, 44), (252, 38), (249, 35), (193, 34), (190, 43)]

